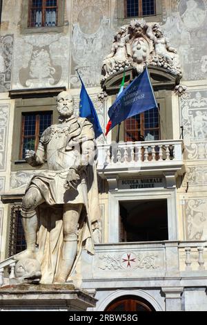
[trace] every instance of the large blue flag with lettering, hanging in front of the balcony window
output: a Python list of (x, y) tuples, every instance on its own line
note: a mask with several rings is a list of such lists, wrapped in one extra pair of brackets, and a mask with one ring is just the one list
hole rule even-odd
[(131, 116), (155, 108), (157, 108), (157, 102), (152, 90), (148, 69), (145, 68), (143, 73), (138, 75), (110, 106), (108, 110), (111, 122), (110, 129)]

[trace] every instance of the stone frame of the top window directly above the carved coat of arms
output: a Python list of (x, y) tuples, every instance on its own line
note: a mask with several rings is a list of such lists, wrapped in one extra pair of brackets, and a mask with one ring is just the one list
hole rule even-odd
[(120, 0), (119, 6), (117, 6), (118, 25), (130, 24), (132, 19), (144, 19), (146, 22), (161, 22), (162, 6), (160, 0), (155, 0), (155, 12), (156, 14), (153, 16), (126, 17), (125, 0)]

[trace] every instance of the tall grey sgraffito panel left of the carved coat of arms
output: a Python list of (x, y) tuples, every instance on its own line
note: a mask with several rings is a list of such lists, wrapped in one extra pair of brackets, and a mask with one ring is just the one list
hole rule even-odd
[(103, 57), (110, 50), (110, 1), (77, 0), (73, 8), (72, 66), (70, 84), (79, 87), (79, 73), (87, 87), (99, 86)]

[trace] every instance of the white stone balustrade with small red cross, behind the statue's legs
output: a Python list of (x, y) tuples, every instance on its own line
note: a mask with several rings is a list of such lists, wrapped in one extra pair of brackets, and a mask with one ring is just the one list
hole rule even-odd
[[(207, 241), (108, 243), (95, 245), (95, 252), (91, 274), (83, 272), (83, 279), (198, 277), (207, 274)], [(0, 286), (10, 284), (10, 279), (14, 279), (16, 263), (14, 257), (0, 263)]]

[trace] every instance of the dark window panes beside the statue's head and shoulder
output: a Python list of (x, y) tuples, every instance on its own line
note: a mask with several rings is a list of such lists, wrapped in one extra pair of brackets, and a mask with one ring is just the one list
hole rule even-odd
[(37, 150), (43, 131), (52, 124), (52, 111), (22, 113), (20, 159), (24, 159), (26, 149)]

